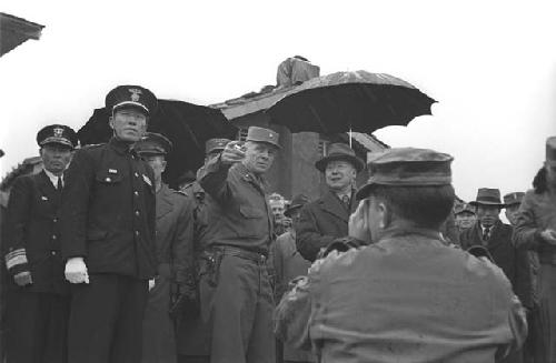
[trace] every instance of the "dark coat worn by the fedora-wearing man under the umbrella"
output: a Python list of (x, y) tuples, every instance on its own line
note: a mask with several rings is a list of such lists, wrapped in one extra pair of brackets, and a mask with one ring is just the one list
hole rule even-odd
[(301, 209), (297, 230), (297, 250), (309, 261), (315, 261), (320, 249), (334, 240), (348, 235), (349, 215), (357, 209), (355, 191), (347, 208), (332, 192), (306, 204)]

